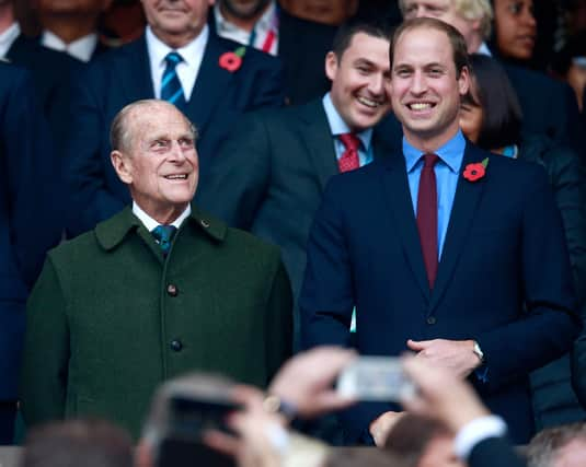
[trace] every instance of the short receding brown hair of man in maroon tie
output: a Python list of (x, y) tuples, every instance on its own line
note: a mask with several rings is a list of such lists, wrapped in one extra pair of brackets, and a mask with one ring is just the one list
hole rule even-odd
[(394, 47), (397, 46), (397, 43), (404, 33), (417, 28), (436, 30), (440, 33), (445, 33), (448, 36), (448, 39), (451, 44), (451, 50), (453, 52), (453, 65), (456, 67), (457, 77), (460, 75), (464, 67), (470, 68), (466, 40), (456, 27), (435, 17), (415, 17), (413, 20), (404, 21), (394, 31), (391, 39), (391, 49), (389, 52), (391, 69), (393, 68)]

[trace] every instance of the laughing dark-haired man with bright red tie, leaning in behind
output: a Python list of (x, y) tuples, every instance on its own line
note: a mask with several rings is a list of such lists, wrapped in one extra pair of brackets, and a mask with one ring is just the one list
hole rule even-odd
[(331, 91), (245, 116), (202, 180), (204, 209), (281, 247), (295, 297), (325, 184), (391, 151), (392, 128), (379, 125), (390, 110), (389, 35), (386, 23), (342, 26), (325, 57)]

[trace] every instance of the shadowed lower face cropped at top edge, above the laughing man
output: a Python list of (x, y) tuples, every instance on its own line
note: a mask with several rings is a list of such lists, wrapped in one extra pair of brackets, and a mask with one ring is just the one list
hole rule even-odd
[(290, 14), (317, 23), (340, 25), (353, 16), (358, 0), (280, 0)]

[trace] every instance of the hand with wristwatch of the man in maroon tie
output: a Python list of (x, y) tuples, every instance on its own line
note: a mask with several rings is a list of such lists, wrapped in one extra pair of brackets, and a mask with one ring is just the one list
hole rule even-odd
[(473, 340), (410, 339), (407, 347), (429, 365), (445, 367), (461, 378), (466, 378), (482, 363), (474, 353)]

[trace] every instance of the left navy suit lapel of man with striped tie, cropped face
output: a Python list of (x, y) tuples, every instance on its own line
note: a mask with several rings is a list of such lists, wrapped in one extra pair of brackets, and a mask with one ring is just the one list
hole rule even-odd
[[(154, 84), (149, 63), (147, 40), (142, 35), (136, 42), (120, 48), (117, 61), (124, 95), (128, 102), (154, 98)], [(124, 54), (124, 55), (123, 55)]]

